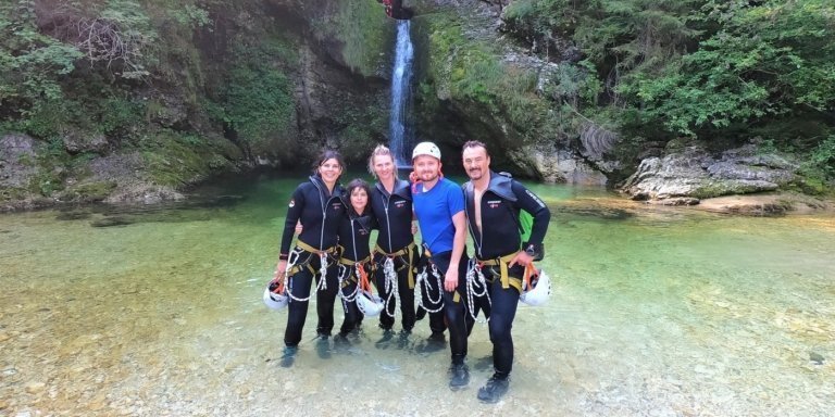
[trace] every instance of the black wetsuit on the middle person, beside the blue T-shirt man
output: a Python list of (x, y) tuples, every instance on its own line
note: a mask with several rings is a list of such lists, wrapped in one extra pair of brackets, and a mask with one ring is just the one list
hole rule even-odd
[[(412, 192), (409, 181), (396, 180), (389, 193), (377, 182), (371, 190), (370, 204), (379, 225), (377, 244), (374, 249), (376, 270), (374, 280), (383, 300), (388, 300), (379, 314), (379, 327), (391, 329), (397, 308), (395, 298), (386, 291), (385, 262), (390, 257), (397, 273), (397, 292), (400, 298), (400, 314), (403, 330), (414, 327), (414, 276), (420, 250), (412, 237)], [(443, 329), (441, 329), (443, 331)]]

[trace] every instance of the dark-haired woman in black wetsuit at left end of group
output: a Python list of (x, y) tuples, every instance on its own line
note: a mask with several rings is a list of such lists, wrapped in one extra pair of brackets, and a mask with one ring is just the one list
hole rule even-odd
[[(287, 275), (289, 312), (284, 333), (284, 359), (291, 363), (301, 341), (301, 330), (308, 314), (311, 285), (316, 282), (316, 333), (326, 341), (334, 328), (334, 303), (337, 282), (337, 231), (345, 216), (340, 199), (342, 187), (338, 184), (345, 164), (336, 151), (325, 151), (319, 159), (314, 175), (296, 188), (287, 210), (282, 248), (274, 280)], [(290, 251), (297, 223), (302, 231)], [(289, 269), (288, 269), (289, 265)]]

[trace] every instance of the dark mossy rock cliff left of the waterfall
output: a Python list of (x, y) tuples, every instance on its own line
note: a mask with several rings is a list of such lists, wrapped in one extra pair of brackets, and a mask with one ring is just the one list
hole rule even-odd
[[(387, 141), (394, 22), (375, 0), (207, 7), (212, 25), (190, 35), (160, 28), (162, 41), (177, 42), (163, 48), (169, 73), (122, 87), (132, 123), (104, 132), (67, 125), (51, 137), (0, 131), (0, 210), (180, 199), (178, 190), (220, 173), (298, 167), (324, 147), (364, 162)], [(264, 74), (286, 80), (290, 111), (281, 130), (254, 139), (261, 122), (248, 118), (247, 102), (283, 93), (259, 90)], [(232, 88), (240, 80), (251, 86)]]

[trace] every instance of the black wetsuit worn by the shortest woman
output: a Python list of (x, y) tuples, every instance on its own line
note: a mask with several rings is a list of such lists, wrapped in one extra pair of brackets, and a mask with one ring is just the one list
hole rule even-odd
[[(349, 198), (346, 195), (346, 199)], [(372, 276), (371, 230), (376, 227), (376, 219), (370, 210), (361, 215), (357, 214), (349, 203), (345, 202), (347, 215), (342, 217), (339, 225), (339, 264), (342, 295), (352, 298), (356, 295), (357, 286), (360, 277), (357, 275), (357, 264), (359, 263), (369, 277)], [(346, 301), (342, 299), (342, 309), (345, 319), (339, 329), (339, 333), (345, 336), (354, 330), (362, 320), (362, 313), (357, 307), (357, 301)]]

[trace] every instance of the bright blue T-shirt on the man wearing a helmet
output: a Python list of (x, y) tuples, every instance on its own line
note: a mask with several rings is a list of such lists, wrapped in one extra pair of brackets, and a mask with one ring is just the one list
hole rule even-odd
[(452, 216), (464, 211), (464, 191), (457, 184), (441, 178), (428, 191), (423, 189), (423, 184), (419, 185), (412, 199), (421, 236), (429, 252), (434, 255), (451, 251), (456, 237)]

